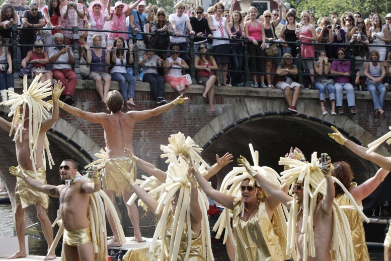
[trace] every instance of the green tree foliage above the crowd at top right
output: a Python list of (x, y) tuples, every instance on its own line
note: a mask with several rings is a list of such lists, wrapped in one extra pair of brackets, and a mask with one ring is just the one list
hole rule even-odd
[[(360, 12), (362, 18), (370, 14), (380, 14), (382, 18), (391, 12), (391, 2), (388, 0), (296, 0), (292, 3), (298, 14), (303, 10), (309, 10), (317, 19), (337, 12), (340, 16), (345, 11)], [(387, 6), (388, 5), (388, 6)]]

